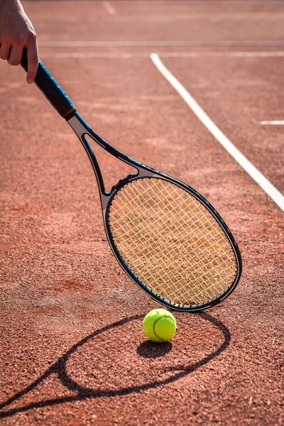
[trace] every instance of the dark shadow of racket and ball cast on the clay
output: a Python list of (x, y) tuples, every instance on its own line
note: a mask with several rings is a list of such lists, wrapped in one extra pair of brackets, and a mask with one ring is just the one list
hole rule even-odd
[[(166, 368), (167, 371), (173, 372), (173, 375), (166, 378), (160, 378), (158, 380), (154, 380), (151, 383), (142, 383), (138, 386), (128, 386), (128, 387), (121, 387), (117, 389), (93, 389), (88, 388), (86, 386), (82, 386), (80, 383), (77, 383), (75, 380), (73, 380), (70, 375), (67, 372), (67, 361), (70, 359), (70, 356), (75, 353), (81, 346), (84, 344), (87, 344), (88, 342), (92, 341), (95, 337), (98, 337), (100, 334), (103, 334), (105, 332), (108, 332), (111, 329), (114, 329), (115, 327), (121, 327), (125, 324), (128, 324), (134, 320), (141, 320), (143, 318), (143, 315), (135, 315), (129, 318), (125, 318), (123, 320), (120, 320), (118, 322), (114, 322), (112, 324), (109, 324), (105, 327), (102, 327), (101, 329), (96, 330), (92, 334), (89, 334), (87, 337), (84, 337), (84, 339), (80, 340), (80, 342), (77, 342), (77, 344), (73, 345), (65, 354), (63, 354), (58, 361), (55, 362), (50, 368), (48, 368), (41, 376), (39, 376), (35, 381), (33, 381), (30, 385), (26, 386), (26, 388), (23, 388), (21, 391), (18, 391), (8, 400), (4, 401), (3, 403), (0, 403), (0, 418), (4, 417), (11, 417), (15, 415), (16, 413), (25, 412), (28, 410), (31, 410), (33, 408), (43, 408), (47, 406), (52, 405), (58, 405), (62, 403), (67, 402), (74, 402), (78, 400), (87, 400), (91, 398), (102, 398), (102, 397), (111, 397), (111, 396), (118, 396), (118, 395), (127, 395), (129, 393), (136, 393), (140, 391), (145, 391), (151, 388), (158, 388), (159, 386), (166, 385), (168, 383), (173, 383), (174, 381), (178, 381), (180, 378), (187, 376), (190, 373), (193, 373), (197, 370), (197, 368), (200, 368), (204, 366), (205, 364), (208, 364), (209, 361), (216, 358), (222, 352), (229, 346), (230, 340), (231, 340), (231, 334), (229, 332), (229, 329), (219, 320), (212, 317), (212, 315), (207, 314), (206, 312), (195, 314), (194, 317), (200, 317), (200, 319), (208, 321), (210, 324), (212, 324), (216, 329), (219, 331), (219, 333), (222, 335), (222, 343), (217, 347), (217, 349), (214, 349), (211, 351), (207, 356), (202, 357), (202, 359), (190, 363), (188, 365), (178, 365), (178, 366), (168, 366)], [(206, 339), (208, 339), (209, 334), (207, 334)], [(152, 358), (155, 359), (159, 356), (164, 356), (165, 354), (168, 354), (168, 352), (171, 350), (172, 346), (170, 343), (168, 344), (152, 344), (152, 342), (143, 342), (138, 348), (136, 349), (136, 353), (138, 356), (146, 358)], [(40, 383), (45, 381), (50, 375), (55, 374), (58, 376), (58, 379), (62, 383), (65, 388), (69, 389), (72, 392), (76, 392), (76, 395), (70, 395), (70, 396), (62, 396), (60, 398), (53, 398), (53, 399), (43, 399), (37, 402), (28, 403), (27, 405), (23, 405), (22, 407), (18, 408), (11, 408), (9, 410), (3, 410), (7, 408), (9, 405), (11, 405), (16, 400), (20, 399), (23, 395), (28, 394), (29, 392), (33, 391), (36, 386), (38, 386)]]

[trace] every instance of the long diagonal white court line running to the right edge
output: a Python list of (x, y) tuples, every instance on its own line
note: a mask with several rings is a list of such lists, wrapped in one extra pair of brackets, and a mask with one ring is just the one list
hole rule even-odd
[(180, 94), (185, 103), (192, 109), (196, 114), (198, 119), (204, 124), (204, 126), (209, 130), (210, 133), (217, 139), (219, 143), (228, 151), (228, 153), (236, 160), (239, 165), (241, 165), (246, 173), (248, 173), (253, 180), (266, 192), (266, 194), (271, 197), (271, 199), (284, 211), (284, 197), (283, 195), (266, 179), (265, 176), (244, 156), (241, 151), (239, 151), (234, 143), (232, 143), (229, 138), (227, 138), (224, 133), (219, 129), (219, 127), (214, 124), (212, 119), (207, 116), (206, 112), (200, 107), (199, 104), (195, 101), (192, 95), (187, 92), (187, 89), (182, 86), (182, 84), (175, 78), (175, 76), (165, 67), (163, 62), (160, 60), (159, 56), (156, 53), (151, 54), (151, 60), (158, 68), (160, 73), (165, 77), (166, 80), (175, 88), (175, 90)]

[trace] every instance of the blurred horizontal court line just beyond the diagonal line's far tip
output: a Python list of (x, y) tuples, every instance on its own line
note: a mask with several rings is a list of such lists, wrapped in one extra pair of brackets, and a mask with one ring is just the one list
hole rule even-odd
[(48, 48), (153, 48), (153, 47), (185, 47), (185, 46), (284, 46), (284, 40), (217, 40), (217, 41), (96, 41), (96, 40), (50, 40), (40, 41), (40, 47)]

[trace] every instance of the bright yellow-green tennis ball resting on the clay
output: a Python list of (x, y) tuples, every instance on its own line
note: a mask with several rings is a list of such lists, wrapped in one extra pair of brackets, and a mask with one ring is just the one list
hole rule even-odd
[(165, 309), (148, 312), (143, 320), (143, 330), (153, 342), (167, 342), (175, 334), (175, 317)]

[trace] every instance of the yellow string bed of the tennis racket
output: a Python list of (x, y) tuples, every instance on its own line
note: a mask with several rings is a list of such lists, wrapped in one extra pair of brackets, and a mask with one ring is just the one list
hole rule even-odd
[(124, 263), (170, 302), (202, 304), (224, 293), (236, 276), (234, 251), (221, 226), (172, 182), (131, 181), (114, 196), (108, 219)]

